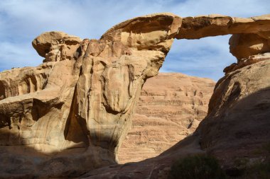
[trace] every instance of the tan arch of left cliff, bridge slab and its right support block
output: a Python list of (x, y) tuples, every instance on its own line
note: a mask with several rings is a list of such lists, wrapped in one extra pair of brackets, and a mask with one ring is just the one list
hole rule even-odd
[[(270, 16), (180, 18), (157, 13), (119, 23), (100, 40), (43, 33), (33, 40), (33, 47), (45, 57), (43, 64), (0, 74), (0, 82), (5, 84), (0, 91), (4, 96), (0, 100), (0, 132), (14, 135), (3, 139), (2, 145), (27, 145), (45, 154), (69, 149), (61, 155), (66, 163), (77, 148), (85, 149), (77, 158), (87, 170), (115, 163), (141, 87), (158, 74), (174, 38), (235, 34), (230, 51), (238, 62), (225, 69), (229, 74), (269, 59), (269, 54), (260, 54), (270, 52), (269, 28)], [(252, 56), (255, 54), (260, 55)], [(217, 86), (220, 83), (222, 80)], [(29, 86), (36, 87), (28, 90)], [(208, 113), (212, 110), (210, 105)], [(41, 175), (50, 171), (56, 159), (44, 160), (48, 165)], [(70, 171), (80, 173), (85, 168), (68, 163), (55, 175)]]

